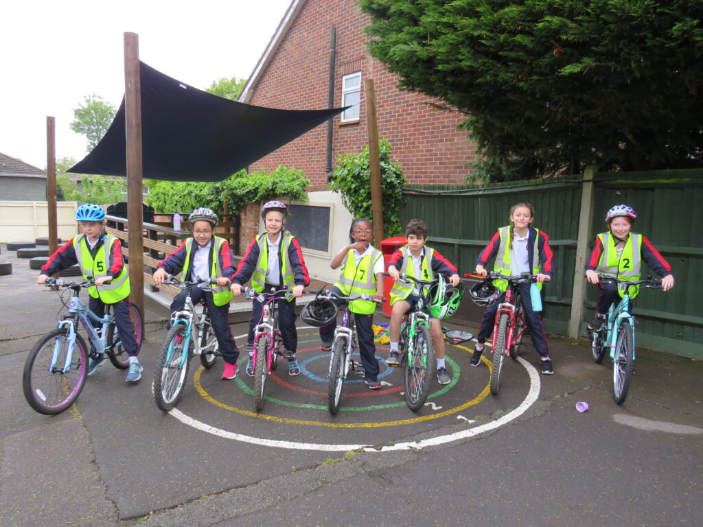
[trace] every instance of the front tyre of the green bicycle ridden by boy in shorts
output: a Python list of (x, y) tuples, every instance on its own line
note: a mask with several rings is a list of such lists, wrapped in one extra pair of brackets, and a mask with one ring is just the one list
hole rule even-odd
[(405, 378), (405, 402), (408, 408), (417, 412), (423, 408), (430, 393), (430, 382), (434, 377), (434, 346), (430, 328), (424, 324), (417, 325), (415, 345), (410, 353), (405, 353), (407, 360), (403, 365)]

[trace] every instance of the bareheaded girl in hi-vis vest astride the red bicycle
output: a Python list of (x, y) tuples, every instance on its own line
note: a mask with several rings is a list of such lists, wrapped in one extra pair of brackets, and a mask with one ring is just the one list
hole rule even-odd
[[(515, 276), (522, 273), (536, 275), (538, 287), (549, 280), (554, 271), (552, 263), (552, 249), (549, 247), (549, 238), (543, 230), (531, 226), (534, 221), (534, 209), (529, 203), (518, 203), (510, 209), (510, 225), (499, 228), (486, 248), (479, 254), (476, 264), (476, 274), (486, 276), (486, 264), (495, 257), (494, 271), (502, 275)], [(491, 336), (496, 320), (498, 306), (505, 298), (508, 282), (494, 280), (494, 286), (502, 292), (501, 296), (492, 302), (481, 320), (477, 344), (470, 364), (478, 366), (484, 351), (486, 339)], [(542, 373), (552, 375), (554, 367), (549, 355), (549, 344), (544, 334), (542, 319), (532, 307), (530, 284), (520, 284), (520, 298), (525, 314), (525, 323), (532, 336), (532, 345), (539, 353), (542, 362)]]

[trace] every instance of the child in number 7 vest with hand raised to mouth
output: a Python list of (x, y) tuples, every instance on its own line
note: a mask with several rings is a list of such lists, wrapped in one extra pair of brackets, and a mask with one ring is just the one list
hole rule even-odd
[[(330, 267), (336, 269), (342, 266), (339, 282), (330, 289), (344, 297), (370, 294), (376, 300), (383, 299), (383, 258), (378, 249), (371, 245), (373, 228), (366, 218), (357, 218), (349, 228), (349, 245), (336, 254), (330, 262)], [(335, 301), (342, 304), (342, 301)], [(364, 382), (372, 390), (378, 390), (378, 360), (376, 346), (373, 343), (373, 312), (377, 304), (370, 300), (358, 299), (349, 302), (349, 311), (354, 313), (356, 320), (356, 337), (359, 338), (359, 354), (361, 364), (366, 372)], [(330, 351), (337, 329), (337, 320), (320, 328), (320, 339), (323, 351)]]

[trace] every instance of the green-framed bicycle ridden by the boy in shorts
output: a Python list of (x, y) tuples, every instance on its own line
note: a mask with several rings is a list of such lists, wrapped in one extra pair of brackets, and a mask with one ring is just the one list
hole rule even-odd
[[(383, 274), (389, 276), (388, 273)], [(398, 365), (403, 368), (406, 405), (417, 412), (425, 405), (430, 393), (430, 382), (434, 378), (434, 368), (437, 366), (430, 333), (430, 315), (425, 311), (425, 306), (429, 289), (439, 282), (439, 278), (418, 280), (401, 273), (399, 279), (420, 285), (418, 302), (406, 313), (405, 323), (401, 327), (399, 349), (402, 352)]]

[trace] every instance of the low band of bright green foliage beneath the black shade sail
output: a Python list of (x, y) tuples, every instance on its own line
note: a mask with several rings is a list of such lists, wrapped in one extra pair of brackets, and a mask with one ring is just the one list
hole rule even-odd
[(305, 189), (309, 184), (302, 171), (281, 165), (271, 172), (262, 169), (247, 174), (242, 170), (216, 183), (158, 181), (146, 199), (159, 212), (190, 212), (197, 207), (209, 207), (222, 214), (227, 197), (230, 214), (237, 214), (248, 203), (278, 196), (307, 201)]

